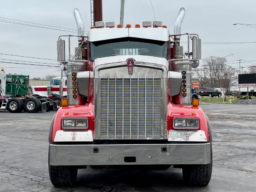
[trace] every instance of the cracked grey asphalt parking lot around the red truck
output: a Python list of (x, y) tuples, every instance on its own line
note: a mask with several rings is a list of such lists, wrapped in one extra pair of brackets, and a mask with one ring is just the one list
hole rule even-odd
[(213, 170), (206, 187), (186, 186), (181, 169), (79, 169), (75, 186), (56, 188), (48, 174), (48, 131), (55, 112), (0, 111), (0, 191), (256, 191), (256, 105), (200, 105), (212, 129)]

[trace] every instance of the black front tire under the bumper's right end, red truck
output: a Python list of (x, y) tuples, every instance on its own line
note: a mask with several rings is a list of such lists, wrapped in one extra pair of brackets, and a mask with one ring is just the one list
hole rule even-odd
[(212, 176), (212, 144), (211, 163), (206, 165), (187, 165), (182, 168), (183, 180), (187, 185), (207, 186)]

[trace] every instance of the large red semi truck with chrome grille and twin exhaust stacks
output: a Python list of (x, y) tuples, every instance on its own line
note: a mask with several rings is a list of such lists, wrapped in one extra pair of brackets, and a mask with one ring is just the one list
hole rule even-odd
[[(84, 36), (77, 9), (74, 15), (76, 60), (65, 61), (64, 36), (57, 42), (58, 61), (67, 69), (67, 99), (49, 129), (52, 184), (73, 185), (77, 170), (87, 166), (173, 166), (182, 169), (185, 183), (206, 186), (212, 174), (211, 130), (199, 100), (191, 99), (201, 40), (180, 33), (185, 9), (173, 34), (158, 21), (134, 28), (100, 21)], [(192, 40), (192, 58), (183, 54), (181, 35), (188, 45)]]

